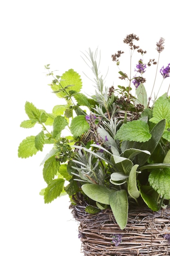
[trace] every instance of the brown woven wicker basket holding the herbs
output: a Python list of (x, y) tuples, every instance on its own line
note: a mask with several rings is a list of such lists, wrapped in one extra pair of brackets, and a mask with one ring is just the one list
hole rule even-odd
[[(119, 228), (110, 209), (89, 214), (84, 206), (76, 205), (72, 213), (79, 222), (84, 256), (170, 255), (170, 208), (159, 212), (130, 209), (124, 230)], [(116, 246), (112, 237), (117, 235), (122, 235), (122, 241)]]

